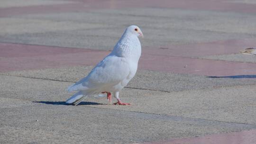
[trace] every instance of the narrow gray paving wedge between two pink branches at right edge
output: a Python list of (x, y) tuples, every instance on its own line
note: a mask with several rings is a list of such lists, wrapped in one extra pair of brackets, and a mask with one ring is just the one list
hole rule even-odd
[(200, 57), (202, 59), (256, 63), (256, 55), (249, 54), (223, 54), (223, 55), (208, 55)]

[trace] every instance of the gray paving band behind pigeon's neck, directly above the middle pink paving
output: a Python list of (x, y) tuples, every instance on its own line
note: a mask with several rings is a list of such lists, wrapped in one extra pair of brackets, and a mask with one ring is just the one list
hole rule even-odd
[[(125, 26), (127, 27), (127, 26)], [(0, 36), (0, 42), (5, 43), (18, 43), (18, 44), (30, 44), (30, 45), (48, 45), (48, 46), (61, 46), (71, 48), (90, 48), (99, 50), (112, 50), (117, 43), (118, 39), (123, 33), (123, 29), (119, 31), (118, 36), (109, 36), (109, 33), (102, 36), (102, 29), (97, 30), (72, 30), (61, 32), (44, 32), (33, 34), (18, 34), (18, 35), (5, 35)], [(115, 28), (104, 28), (112, 29)], [(149, 29), (148, 29), (149, 30)], [(153, 31), (153, 30), (149, 30)], [(161, 33), (161, 32), (155, 32)], [(200, 35), (198, 35), (200, 33)], [(151, 35), (151, 34), (149, 34)], [(161, 35), (161, 34), (160, 34)], [(168, 35), (168, 36), (167, 36)], [(215, 38), (214, 38), (215, 37)], [(204, 30), (180, 30), (169, 29), (169, 33), (163, 38), (161, 36), (152, 37), (147, 34), (144, 38), (140, 39), (142, 47), (144, 46), (157, 46), (166, 47), (168, 45), (187, 45), (191, 43), (211, 42), (218, 40), (239, 39), (239, 38), (252, 38), (256, 35), (235, 33), (222, 33), (211, 32)]]

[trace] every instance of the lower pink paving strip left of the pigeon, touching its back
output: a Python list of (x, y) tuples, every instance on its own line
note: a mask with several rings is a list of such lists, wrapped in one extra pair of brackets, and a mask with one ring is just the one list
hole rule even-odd
[(76, 54), (56, 54), (30, 57), (0, 57), (0, 72), (59, 68), (76, 65), (95, 65), (107, 55), (106, 52), (84, 52)]

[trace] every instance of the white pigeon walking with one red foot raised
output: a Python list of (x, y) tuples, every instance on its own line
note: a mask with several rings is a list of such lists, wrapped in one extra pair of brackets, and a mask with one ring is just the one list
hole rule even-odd
[(137, 72), (141, 55), (138, 37), (143, 37), (139, 27), (129, 26), (115, 45), (113, 51), (98, 63), (82, 80), (68, 88), (68, 91), (78, 91), (66, 103), (78, 105), (88, 96), (107, 93), (111, 103), (111, 93), (118, 102), (115, 105), (130, 105), (119, 99), (122, 90)]

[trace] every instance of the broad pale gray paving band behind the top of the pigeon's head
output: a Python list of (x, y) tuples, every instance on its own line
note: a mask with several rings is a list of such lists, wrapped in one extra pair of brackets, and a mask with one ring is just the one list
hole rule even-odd
[[(145, 31), (147, 33), (154, 33), (155, 30), (162, 30), (162, 32), (166, 33), (168, 28), (176, 28), (256, 34), (255, 31), (251, 31), (256, 26), (254, 23), (251, 23), (256, 20), (255, 14), (211, 10), (172, 8), (94, 9), (87, 12), (30, 14), (18, 16), (18, 18), (50, 19), (53, 21), (64, 21), (68, 19), (80, 23), (101, 23), (103, 25), (108, 24), (110, 27), (115, 26), (117, 28), (116, 30), (123, 30), (119, 28), (127, 26), (130, 23), (139, 24), (139, 26), (143, 26), (144, 28), (154, 28), (151, 31)], [(230, 23), (233, 25), (230, 25)], [(241, 27), (242, 25), (244, 27)], [(117, 31), (111, 30), (109, 32), (117, 33)], [(156, 35), (160, 34), (163, 35), (163, 33)]]

